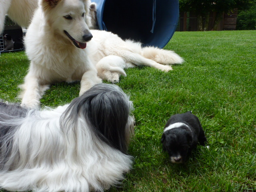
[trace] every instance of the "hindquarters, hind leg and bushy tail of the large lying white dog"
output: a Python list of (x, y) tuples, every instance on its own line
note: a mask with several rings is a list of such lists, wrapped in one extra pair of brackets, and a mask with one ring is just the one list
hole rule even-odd
[[(144, 47), (140, 42), (122, 40), (118, 35), (102, 30), (91, 30), (93, 38), (88, 43), (90, 58), (96, 64), (105, 56), (115, 55), (121, 57), (126, 63), (125, 67), (149, 66), (168, 72), (172, 70), (170, 64), (181, 64), (184, 60), (170, 50), (156, 47)], [(127, 65), (128, 64), (128, 65)], [(115, 64), (118, 65), (118, 64)], [(111, 72), (111, 71), (110, 71)], [(109, 80), (111, 82), (111, 80)]]

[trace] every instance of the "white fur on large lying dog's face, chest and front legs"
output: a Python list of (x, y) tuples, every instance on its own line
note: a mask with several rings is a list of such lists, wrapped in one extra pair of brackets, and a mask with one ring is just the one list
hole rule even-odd
[[(82, 95), (94, 84), (102, 82), (88, 57), (88, 49), (77, 48), (64, 34), (66, 30), (75, 40), (84, 42), (82, 36), (89, 32), (90, 26), (89, 5), (89, 0), (61, 0), (51, 8), (40, 1), (24, 41), (31, 62), (21, 86), (22, 106), (38, 108), (48, 84), (79, 80), (79, 95)], [(82, 17), (84, 12), (85, 18)], [(64, 18), (69, 14), (72, 20)]]

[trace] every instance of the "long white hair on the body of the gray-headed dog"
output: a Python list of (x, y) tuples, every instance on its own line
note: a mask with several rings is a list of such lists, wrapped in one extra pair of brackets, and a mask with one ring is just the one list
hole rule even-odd
[(36, 192), (102, 191), (130, 170), (131, 156), (96, 138), (83, 118), (79, 118), (76, 132), (61, 134), (60, 116), (67, 106), (31, 112), (22, 120), (13, 138), (13, 148), (20, 151), (20, 157), (16, 160), (17, 156), (11, 157), (10, 167), (7, 163), (6, 171), (0, 172), (2, 188)]

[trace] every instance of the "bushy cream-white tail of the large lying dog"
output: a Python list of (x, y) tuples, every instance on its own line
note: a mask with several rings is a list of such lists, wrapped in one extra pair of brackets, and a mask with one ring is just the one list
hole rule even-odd
[(178, 54), (174, 53), (174, 51), (156, 47), (142, 48), (142, 56), (164, 65), (182, 64), (182, 62), (184, 62), (184, 60)]

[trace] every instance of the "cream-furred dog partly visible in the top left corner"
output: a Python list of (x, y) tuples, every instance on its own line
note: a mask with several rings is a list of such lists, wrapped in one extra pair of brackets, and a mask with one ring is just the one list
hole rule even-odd
[(5, 15), (22, 27), (28, 27), (38, 0), (0, 0), (0, 33), (4, 29)]

